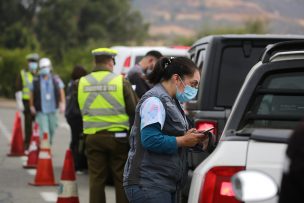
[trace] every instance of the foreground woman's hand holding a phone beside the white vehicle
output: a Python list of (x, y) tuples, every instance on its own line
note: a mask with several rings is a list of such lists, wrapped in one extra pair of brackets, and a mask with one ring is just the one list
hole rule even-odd
[(196, 131), (195, 128), (188, 130), (183, 136), (176, 137), (177, 146), (193, 147), (197, 143), (201, 143), (208, 139), (208, 136)]

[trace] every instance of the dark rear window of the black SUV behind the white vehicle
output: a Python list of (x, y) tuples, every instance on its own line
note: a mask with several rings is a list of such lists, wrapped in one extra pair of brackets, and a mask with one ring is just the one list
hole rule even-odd
[(245, 53), (242, 47), (226, 47), (221, 56), (216, 104), (231, 107), (251, 67), (261, 57), (264, 47), (251, 47)]

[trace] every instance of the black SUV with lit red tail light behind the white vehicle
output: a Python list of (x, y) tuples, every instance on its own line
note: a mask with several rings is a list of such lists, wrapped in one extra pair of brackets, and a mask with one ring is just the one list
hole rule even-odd
[[(200, 68), (201, 81), (195, 100), (186, 104), (187, 114), (199, 130), (214, 127), (219, 138), (231, 107), (252, 66), (268, 44), (304, 39), (303, 35), (217, 35), (195, 42), (189, 54)], [(194, 169), (208, 153), (190, 153)]]

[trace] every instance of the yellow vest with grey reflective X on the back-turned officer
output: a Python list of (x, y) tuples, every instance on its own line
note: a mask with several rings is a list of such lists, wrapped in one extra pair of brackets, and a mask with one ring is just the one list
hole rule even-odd
[(98, 71), (80, 78), (78, 103), (84, 134), (95, 134), (101, 130), (129, 130), (121, 75)]

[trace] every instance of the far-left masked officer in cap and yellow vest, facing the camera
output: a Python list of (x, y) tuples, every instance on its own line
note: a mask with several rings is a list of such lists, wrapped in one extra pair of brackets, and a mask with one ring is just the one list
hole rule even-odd
[(29, 106), (30, 86), (38, 70), (39, 55), (36, 53), (29, 54), (26, 56), (26, 59), (28, 62), (27, 68), (23, 68), (17, 77), (15, 97), (17, 109), (24, 114), (24, 147), (27, 150), (32, 135), (32, 121), (34, 120)]

